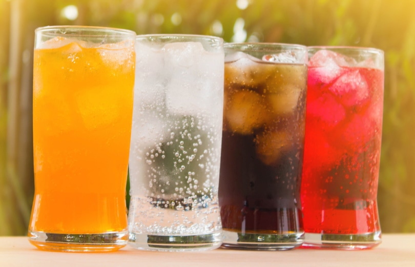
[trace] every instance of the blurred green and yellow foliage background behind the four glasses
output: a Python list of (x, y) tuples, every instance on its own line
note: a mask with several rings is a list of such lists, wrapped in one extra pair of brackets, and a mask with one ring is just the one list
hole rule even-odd
[(34, 29), (47, 25), (384, 50), (381, 227), (415, 232), (415, 1), (0, 0), (0, 236), (27, 232), (34, 187), (33, 39)]

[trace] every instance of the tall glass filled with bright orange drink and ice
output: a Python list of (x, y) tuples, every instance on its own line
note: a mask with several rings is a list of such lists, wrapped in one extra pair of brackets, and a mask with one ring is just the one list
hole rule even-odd
[(135, 36), (82, 26), (35, 30), (28, 236), (39, 249), (114, 251), (127, 244)]

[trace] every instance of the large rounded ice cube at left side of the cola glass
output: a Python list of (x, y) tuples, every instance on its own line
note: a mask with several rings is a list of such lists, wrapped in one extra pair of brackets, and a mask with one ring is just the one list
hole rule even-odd
[(237, 91), (228, 99), (224, 110), (226, 128), (235, 133), (251, 134), (272, 120), (264, 98), (256, 92)]

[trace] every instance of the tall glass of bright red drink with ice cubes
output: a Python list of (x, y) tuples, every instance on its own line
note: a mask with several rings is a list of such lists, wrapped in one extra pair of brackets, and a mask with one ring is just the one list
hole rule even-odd
[(305, 245), (365, 249), (381, 242), (377, 207), (383, 51), (309, 47), (301, 200)]

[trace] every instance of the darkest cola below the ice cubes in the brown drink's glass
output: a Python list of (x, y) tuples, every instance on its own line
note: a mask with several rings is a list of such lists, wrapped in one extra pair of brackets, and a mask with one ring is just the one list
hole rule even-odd
[(298, 232), (301, 161), (287, 152), (275, 166), (264, 165), (252, 136), (223, 132), (219, 203), (222, 227), (238, 232)]

